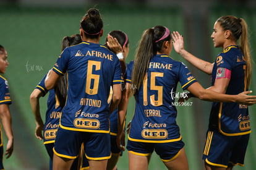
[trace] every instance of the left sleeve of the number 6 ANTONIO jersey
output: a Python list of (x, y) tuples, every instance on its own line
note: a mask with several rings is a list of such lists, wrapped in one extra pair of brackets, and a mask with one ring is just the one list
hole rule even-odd
[(67, 62), (69, 62), (69, 57), (69, 48), (65, 48), (55, 63), (53, 71), (59, 75), (64, 75), (67, 70)]

